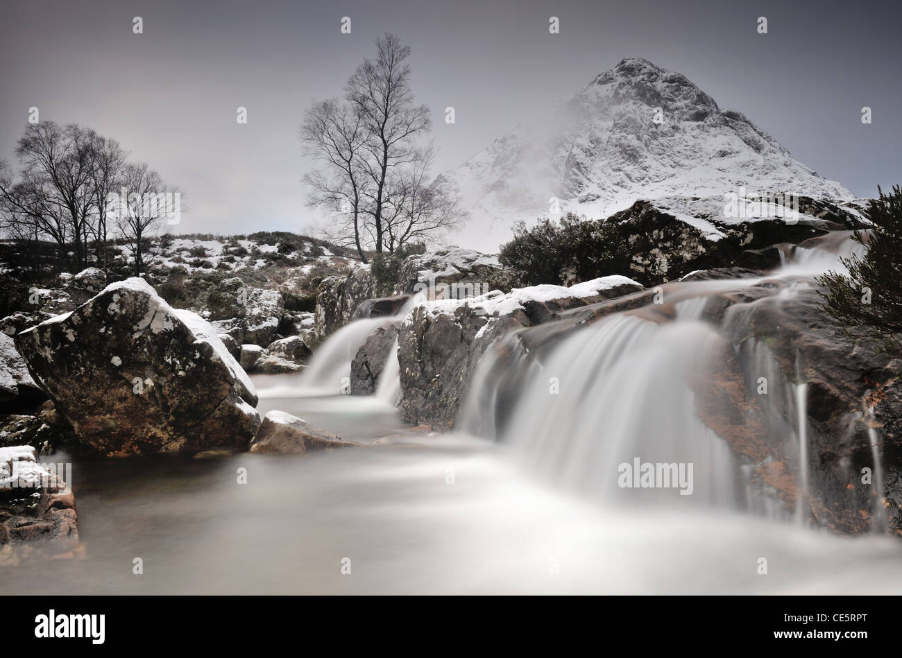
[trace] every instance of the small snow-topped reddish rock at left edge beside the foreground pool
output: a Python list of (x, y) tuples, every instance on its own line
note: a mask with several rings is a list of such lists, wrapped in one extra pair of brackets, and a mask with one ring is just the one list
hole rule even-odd
[(41, 541), (65, 550), (78, 542), (75, 497), (64, 475), (64, 466), (38, 463), (31, 446), (0, 448), (0, 546)]

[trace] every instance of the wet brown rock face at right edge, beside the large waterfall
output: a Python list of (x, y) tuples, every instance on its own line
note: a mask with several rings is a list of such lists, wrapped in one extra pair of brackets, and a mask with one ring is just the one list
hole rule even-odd
[[(737, 344), (766, 344), (788, 381), (807, 384), (812, 517), (843, 534), (868, 532), (879, 496), (887, 501), (889, 527), (902, 535), (902, 355), (888, 356), (874, 341), (855, 332), (844, 334), (820, 303), (816, 287), (803, 288), (788, 301), (773, 296), (736, 306), (727, 311), (725, 325)], [(869, 434), (869, 428), (876, 434)], [(883, 453), (882, 493), (861, 479), (862, 468), (877, 470), (871, 452), (875, 439)], [(782, 481), (795, 487), (797, 447), (783, 443), (771, 446), (769, 454), (788, 462), (793, 475)], [(793, 498), (792, 491), (782, 493)]]

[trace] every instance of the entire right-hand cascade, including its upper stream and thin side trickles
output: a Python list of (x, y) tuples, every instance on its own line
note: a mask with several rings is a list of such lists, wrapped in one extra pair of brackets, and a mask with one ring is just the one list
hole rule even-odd
[[(790, 382), (768, 347), (749, 337), (749, 322), (758, 303), (794, 313), (792, 300), (810, 294), (816, 275), (842, 270), (839, 259), (859, 249), (848, 234), (831, 235), (824, 245), (797, 248), (769, 277), (668, 284), (669, 306), (649, 305), (565, 332), (540, 363), (517, 347), (519, 339), (512, 334), (483, 357), (457, 426), (508, 444), (529, 470), (607, 503), (697, 501), (776, 518), (795, 516), (805, 523), (811, 484), (808, 385), (798, 369)], [(734, 302), (720, 321), (705, 319), (712, 295), (748, 290), (759, 292), (747, 302)], [(717, 316), (716, 309), (712, 314)], [(717, 413), (712, 398), (719, 404), (722, 391), (705, 388), (705, 382), (716, 380), (724, 349), (735, 357), (746, 389), (727, 395), (752, 399), (767, 434), (777, 443), (780, 437), (796, 443), (797, 455), (789, 462), (793, 468), (797, 459), (795, 515), (781, 506), (778, 492), (761, 476), (770, 458), (754, 463), (738, 457), (701, 420), (701, 407)], [(516, 381), (498, 370), (514, 372)], [(732, 386), (732, 380), (723, 386)], [(501, 400), (511, 408), (502, 414), (507, 421), (498, 425)], [(733, 425), (743, 423), (729, 413), (724, 417), (733, 418)], [(665, 469), (692, 464), (691, 495), (661, 490), (658, 480), (640, 483), (633, 474), (645, 464)], [(778, 470), (770, 472), (786, 468), (775, 466)], [(624, 472), (629, 478), (621, 477)], [(671, 481), (666, 489), (686, 487)]]

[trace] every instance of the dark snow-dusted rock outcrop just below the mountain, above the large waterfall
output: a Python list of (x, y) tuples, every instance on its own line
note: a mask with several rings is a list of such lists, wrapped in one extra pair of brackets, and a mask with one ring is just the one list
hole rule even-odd
[[(768, 270), (780, 264), (780, 252), (793, 244), (863, 226), (849, 209), (806, 197), (799, 201), (794, 222), (777, 217), (730, 219), (717, 200), (697, 198), (637, 201), (607, 221), (621, 224), (630, 235), (629, 276), (656, 286), (694, 270)], [(686, 215), (692, 221), (682, 219)]]

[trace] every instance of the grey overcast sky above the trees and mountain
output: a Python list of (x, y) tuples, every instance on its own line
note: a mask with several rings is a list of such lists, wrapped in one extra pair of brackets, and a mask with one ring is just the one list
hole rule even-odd
[[(340, 32), (345, 15), (351, 34)], [(559, 34), (548, 33), (552, 15)], [(178, 185), (192, 211), (183, 233), (306, 232), (301, 115), (340, 94), (376, 37), (393, 32), (410, 44), (414, 91), (434, 113), (436, 173), (636, 56), (873, 196), (902, 183), (900, 17), (895, 0), (4, 2), (0, 158), (15, 161), (37, 106), (42, 120), (114, 137)], [(456, 124), (443, 121), (447, 105)]]

